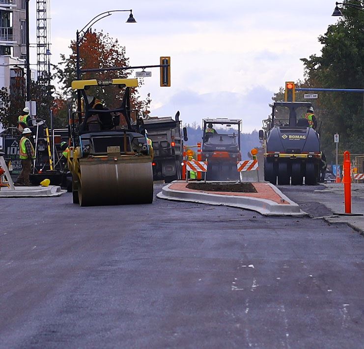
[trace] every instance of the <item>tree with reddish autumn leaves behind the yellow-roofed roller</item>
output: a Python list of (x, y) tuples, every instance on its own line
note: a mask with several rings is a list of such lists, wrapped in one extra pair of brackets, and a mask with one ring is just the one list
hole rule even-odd
[[(76, 42), (71, 41), (72, 53), (69, 57), (61, 55), (61, 62), (58, 63), (56, 77), (60, 83), (60, 95), (56, 98), (55, 116), (64, 117), (68, 101), (75, 101), (75, 94), (71, 90), (71, 82), (77, 79), (76, 76)], [(117, 39), (109, 34), (89, 30), (84, 34), (80, 45), (80, 67), (81, 69), (102, 69), (110, 67), (128, 67), (129, 58), (126, 57), (125, 47), (121, 46)], [(130, 70), (86, 72), (82, 79), (110, 80), (113, 78), (128, 78)], [(142, 83), (142, 80), (139, 81)], [(92, 87), (87, 91), (88, 95), (94, 95), (103, 101), (106, 107), (112, 109), (120, 106), (123, 89), (117, 86)], [(134, 109), (146, 110), (151, 102), (150, 95), (145, 100), (140, 98), (138, 88), (131, 89), (131, 104)]]

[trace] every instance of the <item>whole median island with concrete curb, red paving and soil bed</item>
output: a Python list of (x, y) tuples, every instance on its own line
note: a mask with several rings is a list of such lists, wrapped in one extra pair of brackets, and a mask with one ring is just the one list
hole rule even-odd
[[(204, 190), (206, 185), (208, 185), (208, 190)], [(223, 185), (221, 188), (226, 191), (217, 191), (214, 188), (211, 189), (214, 185), (217, 187)], [(245, 187), (243, 187), (241, 191), (232, 189), (233, 186), (242, 185)], [(252, 186), (253, 190), (247, 190), (249, 186)], [(244, 190), (244, 188), (246, 190)], [(206, 184), (202, 182), (190, 182), (188, 184), (182, 181), (174, 181), (163, 187), (162, 191), (157, 194), (157, 197), (167, 200), (191, 201), (209, 205), (238, 207), (256, 211), (267, 216), (306, 215), (306, 213), (300, 209), (299, 205), (290, 200), (274, 185), (266, 182), (242, 184), (228, 182), (207, 182)]]

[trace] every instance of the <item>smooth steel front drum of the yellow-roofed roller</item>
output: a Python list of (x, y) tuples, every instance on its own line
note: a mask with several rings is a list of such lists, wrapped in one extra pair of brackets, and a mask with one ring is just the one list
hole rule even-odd
[(81, 206), (146, 204), (153, 201), (153, 170), (148, 162), (80, 163)]

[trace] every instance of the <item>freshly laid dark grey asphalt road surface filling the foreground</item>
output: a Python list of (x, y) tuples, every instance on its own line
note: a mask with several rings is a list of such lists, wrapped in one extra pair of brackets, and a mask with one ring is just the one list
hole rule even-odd
[(1, 348), (364, 348), (345, 224), (69, 193), (2, 199), (0, 222)]

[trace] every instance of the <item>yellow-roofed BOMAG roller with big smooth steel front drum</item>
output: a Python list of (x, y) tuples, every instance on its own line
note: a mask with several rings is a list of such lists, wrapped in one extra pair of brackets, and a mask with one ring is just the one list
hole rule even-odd
[[(132, 120), (130, 89), (137, 79), (76, 80), (84, 110), (71, 113), (68, 168), (73, 202), (80, 206), (146, 204), (153, 201), (152, 158), (142, 120)], [(117, 86), (123, 99), (114, 109), (93, 108), (86, 91)], [(100, 105), (100, 104), (99, 104)]]

